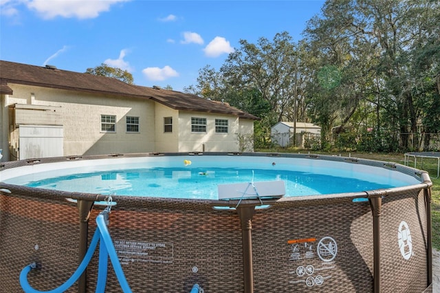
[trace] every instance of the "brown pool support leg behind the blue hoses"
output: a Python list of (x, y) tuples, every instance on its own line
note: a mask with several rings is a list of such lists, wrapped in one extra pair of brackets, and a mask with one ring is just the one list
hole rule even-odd
[[(80, 219), (80, 238), (79, 238), (79, 249), (78, 249), (78, 263), (83, 261), (85, 254), (87, 253), (87, 246), (89, 241), (89, 217), (91, 208), (94, 206), (94, 202), (90, 202), (84, 199), (78, 199), (76, 202), (79, 211)], [(87, 270), (78, 279), (78, 293), (86, 292), (86, 278)]]

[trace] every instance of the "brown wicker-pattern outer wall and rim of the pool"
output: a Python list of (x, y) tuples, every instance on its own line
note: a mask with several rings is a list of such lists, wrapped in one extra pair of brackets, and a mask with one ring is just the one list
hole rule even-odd
[[(142, 154), (150, 155), (181, 154)], [(430, 290), (432, 183), (426, 172), (400, 164), (322, 155), (210, 155), (236, 155), (237, 160), (242, 155), (275, 155), (368, 164), (412, 175), (420, 183), (270, 199), (265, 202), (270, 208), (255, 210), (261, 204), (255, 199), (241, 201), (234, 210), (214, 207), (235, 208), (236, 200), (118, 196), (113, 198), (117, 204), (111, 208), (108, 228), (133, 292), (190, 292), (195, 283), (204, 292)], [(108, 157), (8, 162), (0, 171), (24, 164), (100, 158)], [(104, 209), (91, 203), (106, 196), (3, 183), (0, 188), (0, 291), (19, 292), (19, 274), (34, 261), (41, 268), (28, 276), (32, 287), (52, 290), (61, 285), (84, 253), (84, 231), (90, 240), (96, 229), (94, 219)], [(245, 235), (250, 246), (243, 243)], [(87, 276), (68, 292), (78, 292), (78, 288), (94, 292), (97, 271), (96, 253)], [(111, 268), (106, 292), (121, 292)]]

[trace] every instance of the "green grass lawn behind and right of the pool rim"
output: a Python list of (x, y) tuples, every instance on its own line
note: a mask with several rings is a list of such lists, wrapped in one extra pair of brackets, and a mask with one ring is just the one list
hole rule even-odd
[[(269, 151), (269, 150), (259, 150), (259, 151)], [(277, 151), (283, 152), (283, 150), (278, 149)], [(298, 151), (287, 151), (285, 152), (295, 152)], [(307, 153), (306, 151), (300, 151), (300, 153)], [(403, 153), (322, 153), (311, 151), (310, 153), (317, 153), (322, 155), (341, 155), (343, 157), (355, 157), (369, 160), (378, 160), (384, 162), (395, 162), (399, 164), (405, 164), (405, 155)], [(423, 169), (428, 171), (430, 179), (432, 181), (432, 201), (431, 201), (431, 214), (432, 214), (432, 247), (440, 250), (440, 178), (437, 177), (437, 159), (423, 159), (423, 168), (419, 160), (417, 160), (417, 166), (414, 165), (414, 161), (410, 160), (408, 166), (415, 167), (417, 169)]]

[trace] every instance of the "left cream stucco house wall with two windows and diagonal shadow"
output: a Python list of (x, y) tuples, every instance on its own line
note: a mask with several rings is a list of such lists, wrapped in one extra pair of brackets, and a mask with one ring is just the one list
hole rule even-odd
[[(14, 94), (8, 96), (6, 106), (19, 103), (61, 107), (64, 155), (142, 153), (155, 149), (151, 131), (155, 124), (153, 101), (8, 85)], [(116, 116), (115, 133), (101, 131), (101, 115)], [(126, 116), (139, 117), (139, 133), (126, 132)]]

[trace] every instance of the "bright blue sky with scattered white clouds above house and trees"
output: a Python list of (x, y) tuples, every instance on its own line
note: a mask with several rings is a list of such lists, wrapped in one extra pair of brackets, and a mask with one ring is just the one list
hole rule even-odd
[(230, 52), (287, 31), (302, 39), (321, 0), (0, 0), (0, 59), (85, 72), (106, 63), (136, 85), (195, 85)]

